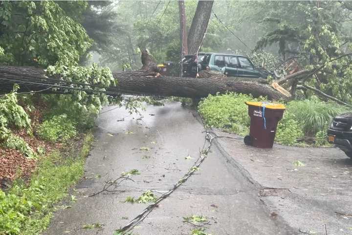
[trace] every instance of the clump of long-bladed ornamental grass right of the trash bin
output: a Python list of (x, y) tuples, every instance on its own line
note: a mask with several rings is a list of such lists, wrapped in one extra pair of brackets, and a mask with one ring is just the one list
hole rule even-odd
[(315, 136), (319, 131), (325, 131), (332, 118), (346, 111), (346, 108), (336, 103), (323, 102), (316, 97), (306, 100), (293, 100), (287, 104), (287, 112), (293, 115), (306, 135)]

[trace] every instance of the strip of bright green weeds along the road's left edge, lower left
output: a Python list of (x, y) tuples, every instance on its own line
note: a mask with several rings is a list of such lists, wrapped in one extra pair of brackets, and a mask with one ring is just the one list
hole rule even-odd
[(28, 183), (17, 180), (8, 192), (0, 190), (0, 235), (40, 234), (47, 228), (55, 204), (82, 178), (92, 141), (87, 134), (77, 156), (54, 151), (41, 157)]

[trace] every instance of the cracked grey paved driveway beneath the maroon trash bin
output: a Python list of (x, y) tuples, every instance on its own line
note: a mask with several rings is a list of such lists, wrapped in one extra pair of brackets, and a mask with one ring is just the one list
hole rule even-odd
[[(219, 136), (237, 137), (215, 129)], [(274, 216), (302, 234), (352, 234), (352, 159), (336, 148), (300, 148), (274, 144), (272, 149), (218, 138), (227, 160), (253, 184)], [(294, 161), (304, 166), (296, 166)]]

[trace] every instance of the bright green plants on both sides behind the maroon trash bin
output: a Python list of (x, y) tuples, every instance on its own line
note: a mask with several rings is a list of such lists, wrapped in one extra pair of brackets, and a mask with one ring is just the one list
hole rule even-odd
[[(198, 106), (199, 113), (209, 126), (245, 136), (249, 133), (250, 118), (245, 101), (265, 101), (264, 97), (227, 93), (209, 95)], [(285, 103), (286, 111), (280, 120), (275, 141), (286, 145), (306, 145), (299, 141), (314, 138), (314, 146), (328, 145), (326, 131), (332, 120), (347, 108), (336, 103), (324, 102), (312, 96), (306, 100)]]

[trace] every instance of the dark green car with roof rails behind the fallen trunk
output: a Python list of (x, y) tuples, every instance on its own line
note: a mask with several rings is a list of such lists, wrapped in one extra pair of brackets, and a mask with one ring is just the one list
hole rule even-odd
[(221, 71), (231, 77), (266, 78), (270, 74), (263, 69), (258, 70), (252, 61), (244, 55), (198, 53), (198, 58), (193, 55), (185, 56), (183, 60), (184, 76), (194, 75), (194, 71), (197, 71), (197, 65), (198, 71)]

